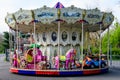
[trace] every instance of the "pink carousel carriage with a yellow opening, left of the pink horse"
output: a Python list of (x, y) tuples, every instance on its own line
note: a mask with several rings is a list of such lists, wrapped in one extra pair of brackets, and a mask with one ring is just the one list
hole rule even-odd
[(33, 69), (34, 64), (36, 65), (36, 69), (39, 69), (39, 67), (43, 67), (43, 64), (45, 67), (47, 56), (43, 56), (41, 50), (37, 48), (29, 49), (25, 54), (25, 56), (26, 56), (26, 61), (28, 63), (27, 64), (28, 69)]

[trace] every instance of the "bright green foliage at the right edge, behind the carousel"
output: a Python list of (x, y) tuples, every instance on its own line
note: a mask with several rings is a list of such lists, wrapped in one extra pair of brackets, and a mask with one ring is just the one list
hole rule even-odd
[[(114, 24), (115, 28), (110, 30), (110, 46), (112, 53), (120, 55), (120, 23)], [(102, 52), (107, 53), (108, 49), (108, 34), (106, 33), (102, 38)]]

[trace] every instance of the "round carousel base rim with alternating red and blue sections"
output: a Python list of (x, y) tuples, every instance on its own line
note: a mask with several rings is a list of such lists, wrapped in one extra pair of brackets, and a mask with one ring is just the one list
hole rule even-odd
[(109, 71), (109, 68), (101, 69), (83, 69), (83, 70), (30, 70), (30, 69), (17, 69), (10, 68), (11, 73), (22, 75), (40, 75), (40, 76), (83, 76), (102, 74)]

